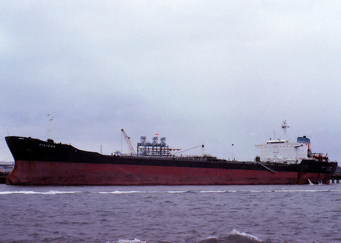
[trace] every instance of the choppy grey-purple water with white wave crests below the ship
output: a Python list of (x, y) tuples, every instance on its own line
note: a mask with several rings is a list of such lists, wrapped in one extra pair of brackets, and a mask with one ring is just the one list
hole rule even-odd
[(0, 208), (0, 242), (341, 242), (341, 184), (2, 184)]

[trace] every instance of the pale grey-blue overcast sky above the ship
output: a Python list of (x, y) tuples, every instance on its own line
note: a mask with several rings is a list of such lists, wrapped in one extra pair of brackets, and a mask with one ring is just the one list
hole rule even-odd
[[(155, 133), (253, 160), (306, 135), (341, 162), (340, 1), (0, 1), (4, 137), (121, 149)], [(7, 131), (8, 127), (8, 131)], [(127, 152), (123, 141), (123, 152)], [(200, 150), (192, 153), (201, 153)]]

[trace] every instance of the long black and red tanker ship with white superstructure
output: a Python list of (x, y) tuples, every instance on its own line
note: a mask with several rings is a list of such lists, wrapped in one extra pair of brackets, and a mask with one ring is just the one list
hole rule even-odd
[[(286, 129), (284, 122), (282, 128)], [(123, 129), (122, 132), (124, 133)], [(260, 185), (329, 183), (337, 162), (313, 154), (310, 139), (270, 139), (256, 145), (254, 161), (215, 156), (175, 156), (166, 139), (141, 137), (137, 153), (102, 155), (26, 137), (6, 137), (15, 167), (7, 176), (10, 185)]]

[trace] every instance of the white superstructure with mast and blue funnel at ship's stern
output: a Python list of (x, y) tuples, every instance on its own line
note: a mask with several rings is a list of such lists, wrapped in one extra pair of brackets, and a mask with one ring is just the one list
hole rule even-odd
[(296, 142), (288, 141), (286, 136), (286, 122), (283, 121), (284, 139), (268, 140), (264, 144), (257, 144), (260, 149), (259, 160), (264, 162), (277, 162), (285, 164), (300, 163), (302, 159), (312, 159), (310, 139), (298, 137)]

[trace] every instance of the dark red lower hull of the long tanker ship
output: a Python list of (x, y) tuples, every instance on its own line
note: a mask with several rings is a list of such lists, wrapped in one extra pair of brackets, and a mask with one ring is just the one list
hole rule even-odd
[(9, 185), (276, 185), (329, 183), (331, 174), (16, 161)]

